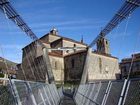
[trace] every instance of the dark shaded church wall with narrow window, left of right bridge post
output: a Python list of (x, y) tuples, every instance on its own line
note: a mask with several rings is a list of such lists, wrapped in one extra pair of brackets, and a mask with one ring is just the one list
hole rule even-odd
[(86, 57), (86, 51), (64, 57), (65, 81), (80, 81)]

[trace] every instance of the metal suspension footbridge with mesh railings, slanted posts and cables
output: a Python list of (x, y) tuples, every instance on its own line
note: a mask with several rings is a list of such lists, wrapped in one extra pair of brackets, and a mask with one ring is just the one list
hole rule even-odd
[[(110, 33), (139, 6), (140, 0), (126, 0), (87, 50), (90, 51), (100, 38)], [(63, 86), (57, 88), (48, 57), (48, 48), (38, 40), (8, 0), (0, 0), (0, 9), (7, 19), (12, 20), (27, 36), (44, 48), (44, 62), (49, 81), (41, 83), (0, 78), (0, 81), (7, 84), (0, 86), (0, 105), (140, 105), (140, 78), (130, 79), (128, 76), (125, 80), (86, 82), (88, 54), (79, 86), (73, 89), (64, 89)], [(57, 50), (60, 49), (64, 48)]]

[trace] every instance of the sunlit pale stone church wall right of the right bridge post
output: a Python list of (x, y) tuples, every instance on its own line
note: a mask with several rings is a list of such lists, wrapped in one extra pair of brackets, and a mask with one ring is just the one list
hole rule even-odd
[(91, 53), (88, 65), (88, 80), (116, 79), (119, 73), (118, 59)]

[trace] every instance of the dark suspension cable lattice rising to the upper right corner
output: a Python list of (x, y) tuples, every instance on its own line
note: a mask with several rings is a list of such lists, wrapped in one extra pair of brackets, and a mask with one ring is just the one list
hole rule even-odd
[(109, 34), (118, 24), (126, 19), (136, 8), (140, 6), (140, 0), (126, 0), (119, 11), (109, 21), (109, 23), (101, 30), (99, 35), (91, 42), (89, 47), (93, 47), (96, 42)]

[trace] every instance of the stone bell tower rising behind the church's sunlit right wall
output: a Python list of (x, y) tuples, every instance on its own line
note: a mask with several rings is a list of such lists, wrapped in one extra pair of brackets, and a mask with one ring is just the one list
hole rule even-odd
[(102, 54), (110, 54), (109, 41), (104, 37), (97, 41), (97, 52)]

